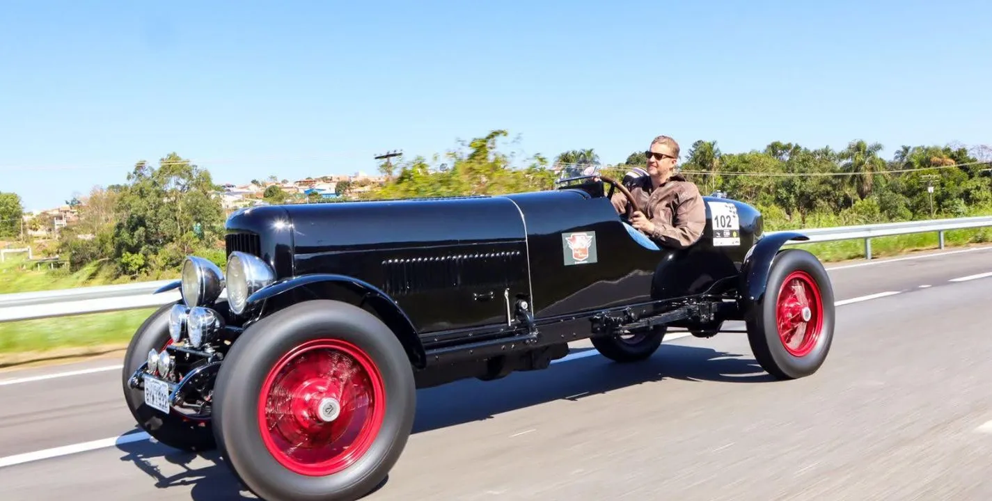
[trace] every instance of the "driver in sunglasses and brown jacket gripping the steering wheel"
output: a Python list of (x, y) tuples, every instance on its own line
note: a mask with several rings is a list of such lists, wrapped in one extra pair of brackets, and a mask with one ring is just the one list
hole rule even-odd
[[(634, 179), (627, 188), (647, 213), (634, 211), (630, 223), (661, 245), (688, 247), (702, 235), (706, 207), (699, 188), (675, 173), (679, 143), (668, 136), (658, 136), (644, 153), (648, 157), (647, 176)], [(621, 214), (632, 208), (627, 196), (619, 191), (610, 201)]]

